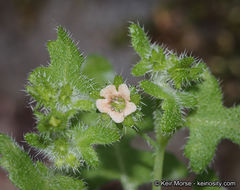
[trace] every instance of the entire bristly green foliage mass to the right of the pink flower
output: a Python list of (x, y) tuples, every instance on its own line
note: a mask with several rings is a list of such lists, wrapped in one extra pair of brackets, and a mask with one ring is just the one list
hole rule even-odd
[(129, 32), (132, 45), (141, 58), (132, 74), (148, 73), (149, 80), (140, 82), (140, 87), (161, 100), (154, 111), (155, 132), (173, 133), (186, 124), (183, 122), (185, 115), (191, 111), (187, 118), (190, 138), (185, 155), (190, 159), (192, 170), (202, 172), (221, 139), (240, 144), (239, 106), (227, 109), (222, 105), (219, 85), (201, 61), (185, 54), (177, 56), (150, 44), (138, 25), (131, 24)]

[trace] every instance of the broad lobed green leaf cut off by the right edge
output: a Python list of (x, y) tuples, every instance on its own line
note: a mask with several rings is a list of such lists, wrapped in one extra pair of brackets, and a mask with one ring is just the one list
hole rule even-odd
[(207, 167), (222, 139), (240, 145), (240, 106), (223, 106), (218, 81), (209, 71), (204, 72), (203, 80), (192, 90), (198, 105), (196, 111), (187, 117), (190, 137), (185, 146), (185, 155), (196, 173)]

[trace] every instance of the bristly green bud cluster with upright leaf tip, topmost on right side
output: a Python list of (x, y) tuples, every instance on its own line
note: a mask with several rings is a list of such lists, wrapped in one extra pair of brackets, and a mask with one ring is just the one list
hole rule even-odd
[(147, 72), (151, 75), (161, 72), (166, 75), (166, 79), (173, 81), (177, 89), (199, 81), (203, 68), (193, 57), (177, 57), (173, 52), (151, 44), (143, 29), (136, 24), (130, 25), (129, 33), (132, 46), (141, 58), (132, 69), (134, 76), (142, 76)]

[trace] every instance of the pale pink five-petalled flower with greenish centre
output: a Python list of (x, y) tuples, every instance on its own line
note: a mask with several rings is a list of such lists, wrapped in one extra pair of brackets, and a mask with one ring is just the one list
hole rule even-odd
[(118, 91), (114, 85), (108, 85), (100, 91), (96, 106), (102, 113), (107, 113), (116, 123), (123, 122), (124, 118), (135, 112), (137, 107), (130, 102), (130, 91), (126, 84), (121, 84)]

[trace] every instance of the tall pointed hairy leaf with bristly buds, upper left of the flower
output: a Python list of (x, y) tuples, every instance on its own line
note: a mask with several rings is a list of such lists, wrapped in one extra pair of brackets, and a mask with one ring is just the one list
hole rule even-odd
[(94, 110), (90, 101), (95, 83), (80, 73), (83, 56), (62, 27), (57, 40), (48, 43), (48, 51), (51, 64), (30, 74), (27, 92), (45, 109)]

